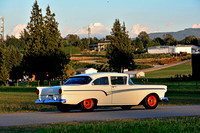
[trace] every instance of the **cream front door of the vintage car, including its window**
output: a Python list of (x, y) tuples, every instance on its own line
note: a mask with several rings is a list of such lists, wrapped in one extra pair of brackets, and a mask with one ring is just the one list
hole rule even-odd
[(133, 95), (130, 92), (127, 76), (111, 76), (112, 104), (128, 105)]

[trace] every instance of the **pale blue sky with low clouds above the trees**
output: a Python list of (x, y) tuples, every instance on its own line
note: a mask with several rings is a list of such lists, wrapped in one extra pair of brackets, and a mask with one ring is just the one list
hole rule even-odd
[[(0, 0), (0, 16), (5, 17), (5, 35), (19, 37), (30, 22), (35, 0)], [(200, 0), (37, 0), (45, 16), (49, 5), (56, 14), (63, 37), (109, 35), (115, 19), (125, 22), (129, 36), (141, 31), (176, 32), (200, 28)], [(1, 26), (1, 23), (0, 23)]]

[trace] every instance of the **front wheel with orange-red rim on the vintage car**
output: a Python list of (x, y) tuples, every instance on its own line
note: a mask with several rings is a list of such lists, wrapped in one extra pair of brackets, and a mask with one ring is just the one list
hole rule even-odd
[(148, 95), (144, 101), (143, 105), (146, 109), (155, 109), (158, 106), (158, 97), (155, 94)]

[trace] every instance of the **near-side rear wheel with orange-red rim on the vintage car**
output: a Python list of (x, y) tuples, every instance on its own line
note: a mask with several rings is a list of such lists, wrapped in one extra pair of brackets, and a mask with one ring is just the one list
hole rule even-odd
[(97, 103), (93, 99), (86, 99), (82, 101), (80, 105), (81, 105), (81, 111), (89, 112), (95, 109)]

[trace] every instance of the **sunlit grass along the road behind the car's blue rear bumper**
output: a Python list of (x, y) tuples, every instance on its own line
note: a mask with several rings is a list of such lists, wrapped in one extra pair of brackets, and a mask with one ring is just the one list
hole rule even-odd
[(52, 111), (55, 106), (35, 104), (34, 92), (0, 92), (0, 113)]

